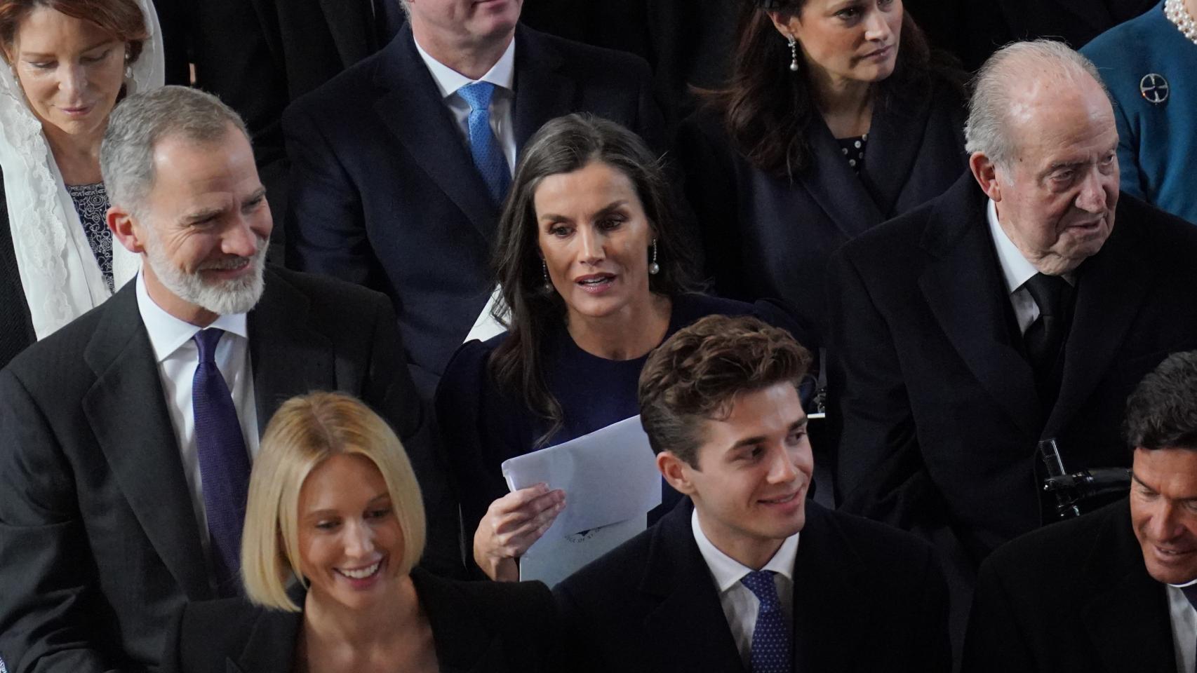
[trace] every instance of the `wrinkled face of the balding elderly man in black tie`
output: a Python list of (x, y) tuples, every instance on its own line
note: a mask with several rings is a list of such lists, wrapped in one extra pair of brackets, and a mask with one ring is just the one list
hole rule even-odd
[(1014, 155), (997, 164), (990, 196), (998, 221), (1039, 271), (1071, 271), (1114, 226), (1118, 131), (1113, 108), (1092, 79), (1039, 78), (1007, 115)]

